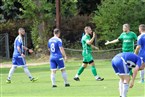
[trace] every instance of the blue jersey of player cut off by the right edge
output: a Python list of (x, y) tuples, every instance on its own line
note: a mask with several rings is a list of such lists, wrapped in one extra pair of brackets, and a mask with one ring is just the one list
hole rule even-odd
[(140, 57), (143, 57), (143, 59), (145, 61), (145, 33), (138, 36), (137, 45), (141, 46), (138, 55)]

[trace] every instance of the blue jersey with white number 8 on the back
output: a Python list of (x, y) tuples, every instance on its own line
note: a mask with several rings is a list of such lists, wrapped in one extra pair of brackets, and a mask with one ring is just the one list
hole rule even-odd
[(60, 52), (59, 47), (62, 47), (62, 41), (58, 37), (52, 37), (48, 41), (48, 48), (50, 49), (51, 58), (61, 58), (62, 53)]

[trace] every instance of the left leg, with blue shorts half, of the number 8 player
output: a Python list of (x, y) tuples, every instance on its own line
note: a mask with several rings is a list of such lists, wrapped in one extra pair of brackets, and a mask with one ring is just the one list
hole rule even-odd
[(52, 87), (57, 87), (56, 82), (55, 82), (57, 63), (52, 58), (50, 59), (50, 69), (51, 69), (50, 79), (51, 79)]

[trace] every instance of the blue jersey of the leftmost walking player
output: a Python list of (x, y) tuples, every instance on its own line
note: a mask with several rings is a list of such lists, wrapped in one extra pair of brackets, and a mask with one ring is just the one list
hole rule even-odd
[(18, 35), (14, 41), (14, 52), (13, 57), (21, 56), (20, 52), (18, 51), (17, 47), (20, 47), (21, 52), (23, 52), (23, 40), (20, 35)]

